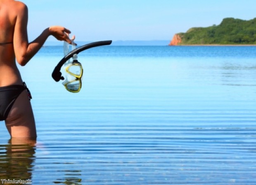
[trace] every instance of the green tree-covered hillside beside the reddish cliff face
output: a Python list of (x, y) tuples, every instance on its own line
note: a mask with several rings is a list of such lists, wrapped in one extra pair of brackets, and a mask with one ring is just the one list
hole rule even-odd
[(207, 28), (190, 28), (178, 33), (180, 45), (186, 44), (256, 44), (256, 18), (244, 21), (224, 18), (220, 25)]

